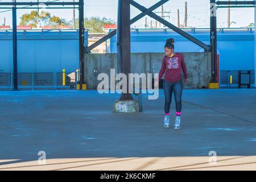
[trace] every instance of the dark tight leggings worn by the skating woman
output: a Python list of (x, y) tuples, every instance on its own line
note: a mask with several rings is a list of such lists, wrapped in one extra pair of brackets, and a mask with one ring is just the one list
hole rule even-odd
[(176, 112), (181, 112), (181, 95), (182, 95), (182, 81), (177, 82), (163, 82), (164, 85), (164, 96), (166, 101), (164, 103), (164, 112), (167, 114), (170, 112), (170, 106), (172, 102), (172, 91), (174, 91)]

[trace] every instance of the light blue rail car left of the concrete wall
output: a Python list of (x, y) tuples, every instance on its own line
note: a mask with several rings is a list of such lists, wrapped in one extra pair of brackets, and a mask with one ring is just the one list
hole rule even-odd
[[(13, 72), (11, 30), (0, 31), (0, 71)], [(85, 32), (88, 44), (88, 32)], [(73, 72), (79, 68), (79, 31), (28, 30), (18, 31), (18, 72)]]

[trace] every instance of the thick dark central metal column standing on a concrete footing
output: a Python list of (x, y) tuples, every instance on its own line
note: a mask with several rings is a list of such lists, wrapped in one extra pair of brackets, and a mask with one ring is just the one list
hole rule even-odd
[(117, 20), (117, 52), (119, 71), (127, 76), (127, 90), (124, 90), (120, 101), (133, 100), (133, 96), (128, 92), (129, 73), (131, 72), (131, 49), (130, 49), (130, 0), (118, 1)]

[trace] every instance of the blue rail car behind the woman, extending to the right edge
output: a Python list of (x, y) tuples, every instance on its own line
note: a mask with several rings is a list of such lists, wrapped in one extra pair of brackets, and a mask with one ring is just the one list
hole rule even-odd
[[(183, 29), (205, 44), (210, 44), (209, 29)], [(111, 31), (111, 30), (110, 30)], [(177, 52), (199, 52), (201, 47), (171, 30), (131, 30), (131, 52), (163, 52), (166, 39), (174, 38)], [(218, 29), (217, 46), (220, 70), (254, 70), (254, 28)], [(117, 38), (110, 39), (109, 51), (117, 52)]]

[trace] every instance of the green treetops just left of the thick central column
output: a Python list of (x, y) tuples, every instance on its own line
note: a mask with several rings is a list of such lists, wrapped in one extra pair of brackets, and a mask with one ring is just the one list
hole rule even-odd
[[(89, 32), (104, 32), (105, 24), (115, 24), (114, 20), (92, 16), (84, 19), (84, 28), (92, 29)], [(79, 28), (79, 19), (76, 20), (76, 28)]]

